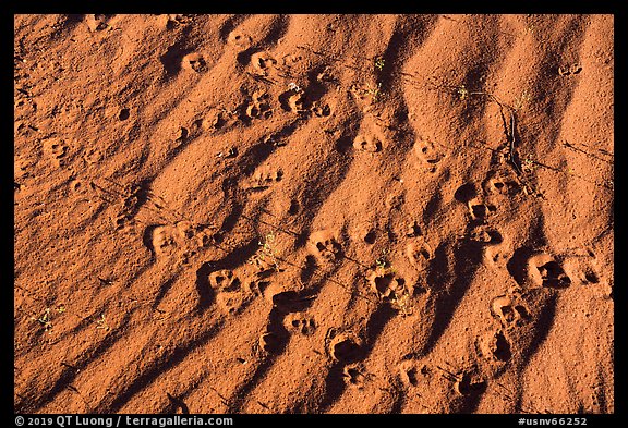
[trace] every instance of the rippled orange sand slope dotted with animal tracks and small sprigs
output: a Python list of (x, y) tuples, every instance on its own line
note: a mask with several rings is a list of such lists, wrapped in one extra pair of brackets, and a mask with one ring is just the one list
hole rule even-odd
[(613, 16), (16, 15), (23, 413), (613, 413)]

